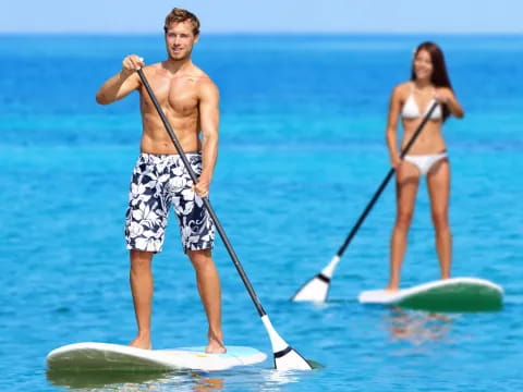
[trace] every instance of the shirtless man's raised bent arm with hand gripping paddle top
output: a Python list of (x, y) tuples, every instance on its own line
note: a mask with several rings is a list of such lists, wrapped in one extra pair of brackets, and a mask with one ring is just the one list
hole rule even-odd
[(136, 54), (130, 54), (123, 59), (122, 70), (101, 85), (96, 93), (96, 101), (100, 105), (109, 105), (137, 89), (139, 76), (135, 71), (141, 66), (144, 66), (143, 59)]

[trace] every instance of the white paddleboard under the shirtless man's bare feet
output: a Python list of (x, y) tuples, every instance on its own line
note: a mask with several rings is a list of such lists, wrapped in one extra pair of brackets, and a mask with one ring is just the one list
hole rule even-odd
[(224, 354), (206, 354), (205, 347), (142, 350), (110, 343), (74, 343), (51, 351), (47, 356), (50, 371), (155, 371), (224, 370), (264, 362), (267, 355), (252, 347), (227, 346)]

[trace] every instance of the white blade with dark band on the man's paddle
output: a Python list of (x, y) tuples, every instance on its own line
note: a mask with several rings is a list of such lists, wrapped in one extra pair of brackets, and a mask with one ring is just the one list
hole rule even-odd
[(277, 370), (313, 370), (311, 364), (276, 332), (269, 316), (262, 316), (262, 321), (269, 334)]

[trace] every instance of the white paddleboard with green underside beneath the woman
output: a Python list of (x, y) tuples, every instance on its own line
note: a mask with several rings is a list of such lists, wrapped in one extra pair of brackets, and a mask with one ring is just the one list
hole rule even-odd
[(502, 307), (503, 290), (487, 280), (452, 278), (398, 292), (370, 290), (360, 293), (362, 304), (397, 305), (433, 311), (488, 311)]

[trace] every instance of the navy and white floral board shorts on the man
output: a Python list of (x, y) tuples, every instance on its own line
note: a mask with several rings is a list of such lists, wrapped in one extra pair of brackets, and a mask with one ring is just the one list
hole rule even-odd
[[(196, 175), (202, 155), (186, 154)], [(214, 247), (215, 224), (179, 155), (142, 152), (133, 170), (125, 213), (127, 249), (159, 253), (171, 205), (178, 217), (183, 252)]]

